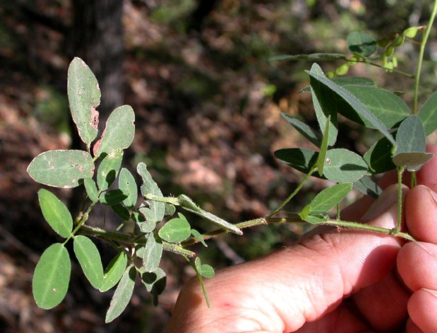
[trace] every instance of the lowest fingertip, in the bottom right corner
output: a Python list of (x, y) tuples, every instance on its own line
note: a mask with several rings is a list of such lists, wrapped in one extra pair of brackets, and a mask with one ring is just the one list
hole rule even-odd
[(408, 313), (424, 333), (437, 332), (437, 290), (417, 290), (408, 302)]

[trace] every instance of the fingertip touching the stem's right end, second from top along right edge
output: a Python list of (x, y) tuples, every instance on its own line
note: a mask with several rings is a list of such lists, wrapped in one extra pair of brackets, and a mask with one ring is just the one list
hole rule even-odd
[(425, 186), (411, 189), (405, 201), (405, 221), (411, 236), (437, 244), (437, 194)]

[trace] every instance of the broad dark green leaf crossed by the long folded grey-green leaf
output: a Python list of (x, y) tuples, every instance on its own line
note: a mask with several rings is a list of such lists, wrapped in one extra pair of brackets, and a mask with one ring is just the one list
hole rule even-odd
[[(388, 90), (359, 85), (345, 85), (343, 88), (358, 98), (386, 128), (396, 126), (410, 114), (403, 99)], [(377, 128), (347, 102), (340, 103), (338, 112), (360, 125)]]

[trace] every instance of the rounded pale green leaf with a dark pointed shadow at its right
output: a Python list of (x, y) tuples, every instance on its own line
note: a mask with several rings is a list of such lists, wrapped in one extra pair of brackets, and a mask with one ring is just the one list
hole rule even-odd
[(337, 183), (353, 183), (367, 174), (367, 164), (358, 154), (344, 148), (326, 153), (323, 175)]

